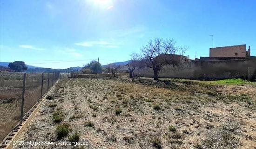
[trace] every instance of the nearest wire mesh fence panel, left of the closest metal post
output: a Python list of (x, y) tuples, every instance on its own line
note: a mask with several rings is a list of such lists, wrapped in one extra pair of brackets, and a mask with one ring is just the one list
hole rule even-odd
[(0, 75), (0, 142), (20, 122), (23, 74)]

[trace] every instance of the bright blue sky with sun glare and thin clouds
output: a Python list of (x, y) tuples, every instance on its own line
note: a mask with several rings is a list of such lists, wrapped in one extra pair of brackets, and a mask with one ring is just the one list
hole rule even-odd
[(2, 62), (67, 68), (100, 57), (108, 64), (129, 60), (154, 37), (174, 38), (199, 58), (209, 56), (209, 35), (215, 47), (246, 44), (256, 55), (256, 1), (0, 0)]

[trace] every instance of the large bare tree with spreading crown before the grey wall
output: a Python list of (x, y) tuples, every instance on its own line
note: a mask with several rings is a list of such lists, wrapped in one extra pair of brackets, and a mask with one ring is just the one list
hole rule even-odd
[(163, 40), (155, 38), (150, 40), (147, 45), (142, 46), (141, 59), (145, 60), (148, 68), (153, 69), (154, 80), (158, 80), (162, 66), (170, 64), (177, 65), (174, 55), (166, 55), (177, 51), (175, 43), (174, 39)]

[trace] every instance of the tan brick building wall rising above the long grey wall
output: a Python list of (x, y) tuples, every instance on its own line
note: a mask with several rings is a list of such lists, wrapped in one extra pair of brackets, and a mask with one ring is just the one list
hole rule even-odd
[(210, 48), (210, 57), (246, 57), (246, 45)]

